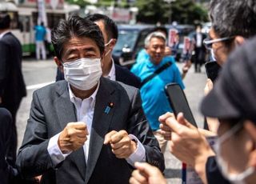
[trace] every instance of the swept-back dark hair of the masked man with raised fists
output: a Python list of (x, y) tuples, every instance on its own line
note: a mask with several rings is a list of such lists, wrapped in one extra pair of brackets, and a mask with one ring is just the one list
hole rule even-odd
[(99, 27), (94, 22), (80, 18), (78, 15), (71, 15), (67, 20), (60, 20), (58, 25), (51, 30), (51, 42), (58, 59), (62, 60), (63, 45), (73, 37), (94, 40), (100, 54), (103, 54), (104, 38)]

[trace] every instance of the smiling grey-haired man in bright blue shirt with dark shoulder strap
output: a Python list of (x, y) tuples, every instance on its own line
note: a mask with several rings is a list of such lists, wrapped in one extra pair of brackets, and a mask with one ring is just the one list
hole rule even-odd
[[(154, 136), (158, 138), (158, 142), (162, 153), (166, 149), (166, 140), (160, 134), (158, 117), (166, 112), (172, 112), (170, 103), (165, 94), (165, 86), (168, 83), (176, 82), (182, 89), (185, 88), (181, 74), (175, 64), (174, 58), (165, 57), (166, 36), (161, 32), (153, 32), (146, 37), (146, 52), (150, 57), (145, 57), (143, 61), (136, 63), (131, 72), (142, 80), (141, 95), (142, 107), (146, 114), (150, 127), (154, 131)], [(162, 70), (161, 73), (154, 76), (147, 82), (145, 79), (154, 74), (156, 70), (166, 65), (170, 65)], [(144, 81), (144, 83), (143, 83)]]

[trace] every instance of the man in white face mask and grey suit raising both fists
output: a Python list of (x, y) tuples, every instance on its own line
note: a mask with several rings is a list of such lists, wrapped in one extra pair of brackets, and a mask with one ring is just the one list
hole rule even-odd
[(104, 38), (74, 15), (52, 30), (65, 81), (34, 92), (17, 166), (43, 183), (127, 183), (134, 162), (164, 170), (139, 90), (102, 77)]

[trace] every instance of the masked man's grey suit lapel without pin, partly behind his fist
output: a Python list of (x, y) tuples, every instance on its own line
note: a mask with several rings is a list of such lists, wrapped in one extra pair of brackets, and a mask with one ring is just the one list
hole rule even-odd
[[(58, 82), (57, 92), (60, 96), (56, 100), (55, 106), (58, 114), (58, 120), (63, 130), (68, 122), (77, 122), (77, 118), (74, 104), (70, 101), (67, 82)], [(85, 179), (86, 160), (83, 148), (81, 147), (70, 154), (70, 159), (75, 162), (75, 165), (78, 166), (78, 170), (82, 178)]]

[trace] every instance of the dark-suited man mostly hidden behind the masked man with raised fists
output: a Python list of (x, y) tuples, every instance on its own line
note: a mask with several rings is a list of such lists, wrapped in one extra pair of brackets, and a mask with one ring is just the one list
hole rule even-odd
[[(104, 14), (90, 14), (85, 18), (96, 23), (102, 30), (104, 37), (106, 54), (102, 60), (102, 75), (103, 77), (110, 78), (110, 80), (123, 82), (127, 85), (134, 86), (136, 88), (141, 87), (140, 78), (132, 74), (130, 70), (114, 64), (112, 58), (112, 50), (116, 42), (118, 41), (118, 26), (112, 19)], [(64, 75), (58, 70), (56, 81), (63, 80)]]

